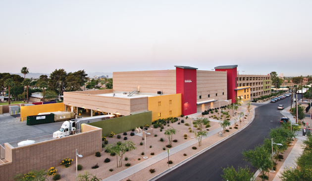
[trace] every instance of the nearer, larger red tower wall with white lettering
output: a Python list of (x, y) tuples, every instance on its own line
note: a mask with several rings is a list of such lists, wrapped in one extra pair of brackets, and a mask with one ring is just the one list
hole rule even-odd
[(197, 112), (196, 86), (196, 69), (176, 68), (176, 93), (181, 93), (183, 115)]

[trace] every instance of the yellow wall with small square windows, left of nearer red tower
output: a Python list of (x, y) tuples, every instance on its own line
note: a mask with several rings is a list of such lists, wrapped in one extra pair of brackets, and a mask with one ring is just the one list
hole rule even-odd
[[(171, 104), (169, 104), (170, 100)], [(158, 102), (160, 102), (160, 106), (158, 106)], [(181, 115), (181, 94), (149, 97), (148, 104), (148, 109), (152, 111), (152, 121)], [(170, 110), (171, 115), (169, 114)], [(158, 113), (161, 113), (160, 117), (158, 117)]]

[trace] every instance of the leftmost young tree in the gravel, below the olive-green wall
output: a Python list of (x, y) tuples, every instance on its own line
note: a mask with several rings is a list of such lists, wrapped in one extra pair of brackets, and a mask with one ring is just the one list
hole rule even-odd
[[(122, 156), (126, 153), (126, 151), (131, 151), (133, 149), (137, 149), (135, 144), (132, 141), (125, 141), (121, 144), (115, 143), (109, 144), (106, 146), (106, 150), (110, 153), (116, 153), (119, 156), (119, 167), (122, 165)], [(117, 156), (117, 168), (118, 168), (118, 156)]]

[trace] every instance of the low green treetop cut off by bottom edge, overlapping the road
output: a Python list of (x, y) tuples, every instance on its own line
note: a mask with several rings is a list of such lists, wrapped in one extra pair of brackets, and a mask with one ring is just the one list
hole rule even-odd
[(253, 178), (254, 173), (250, 172), (250, 169), (246, 166), (244, 169), (238, 167), (237, 171), (234, 167), (223, 168), (223, 175), (221, 177), (225, 181), (250, 181), (250, 178)]

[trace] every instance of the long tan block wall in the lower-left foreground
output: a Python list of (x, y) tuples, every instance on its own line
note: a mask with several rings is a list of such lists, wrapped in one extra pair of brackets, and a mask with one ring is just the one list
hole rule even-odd
[[(16, 174), (26, 174), (31, 170), (48, 170), (59, 166), (61, 161), (79, 154), (89, 156), (102, 151), (102, 129), (82, 124), (83, 133), (50, 140), (33, 145), (12, 147), (5, 143), (5, 159), (8, 163), (0, 164), (0, 181), (10, 181)], [(73, 170), (73, 168), (67, 168)]]

